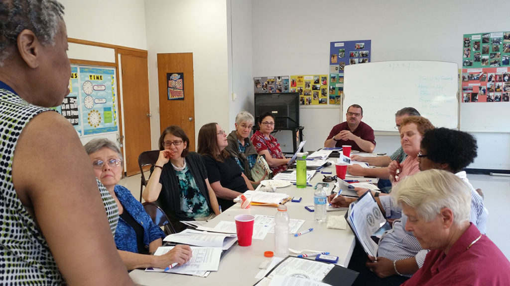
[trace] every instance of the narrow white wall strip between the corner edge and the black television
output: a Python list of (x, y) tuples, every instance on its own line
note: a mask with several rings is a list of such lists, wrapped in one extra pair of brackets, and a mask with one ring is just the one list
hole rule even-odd
[[(236, 115), (242, 110), (253, 114), (251, 42), (251, 0), (227, 1), (228, 38), (228, 126), (235, 129)], [(233, 98), (232, 94), (234, 93)]]

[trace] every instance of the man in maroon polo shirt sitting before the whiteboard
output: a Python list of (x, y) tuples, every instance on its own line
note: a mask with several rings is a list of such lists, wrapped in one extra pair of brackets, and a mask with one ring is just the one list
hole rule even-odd
[(347, 108), (347, 121), (335, 125), (324, 142), (324, 147), (350, 145), (351, 150), (372, 153), (375, 148), (374, 130), (363, 119), (363, 108), (352, 104)]

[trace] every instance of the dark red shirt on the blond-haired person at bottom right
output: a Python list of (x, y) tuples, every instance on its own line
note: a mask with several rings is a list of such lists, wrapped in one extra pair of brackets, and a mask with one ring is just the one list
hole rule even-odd
[(480, 237), (471, 223), (448, 254), (428, 252), (422, 268), (403, 285), (510, 285), (510, 262), (487, 236)]

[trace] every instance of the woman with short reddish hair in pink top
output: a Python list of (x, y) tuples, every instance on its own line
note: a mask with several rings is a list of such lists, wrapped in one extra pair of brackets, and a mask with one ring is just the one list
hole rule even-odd
[(405, 176), (420, 171), (418, 168), (418, 153), (420, 152), (421, 139), (426, 131), (434, 129), (430, 121), (421, 116), (410, 116), (404, 119), (400, 126), (400, 144), (405, 154), (407, 154), (407, 158), (400, 164), (398, 161), (392, 161), (388, 166), (393, 186)]

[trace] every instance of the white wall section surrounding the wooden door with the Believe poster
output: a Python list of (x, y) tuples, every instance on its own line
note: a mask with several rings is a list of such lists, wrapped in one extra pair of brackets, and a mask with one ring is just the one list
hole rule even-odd
[(192, 52), (195, 134), (217, 122), (228, 126), (228, 61), (225, 0), (145, 2), (152, 148), (160, 136), (157, 54)]

